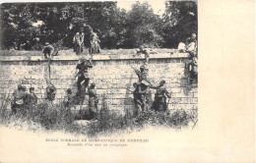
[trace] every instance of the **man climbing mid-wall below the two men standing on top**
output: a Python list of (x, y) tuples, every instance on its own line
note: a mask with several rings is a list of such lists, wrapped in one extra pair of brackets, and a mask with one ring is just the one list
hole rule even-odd
[(85, 87), (88, 86), (90, 78), (89, 78), (89, 68), (93, 68), (93, 63), (90, 60), (89, 62), (87, 62), (86, 58), (81, 58), (79, 63), (77, 64), (76, 69), (79, 70), (77, 76), (78, 76), (78, 81), (77, 81), (77, 86), (78, 86), (78, 90), (81, 90), (81, 83), (83, 81), (85, 81)]

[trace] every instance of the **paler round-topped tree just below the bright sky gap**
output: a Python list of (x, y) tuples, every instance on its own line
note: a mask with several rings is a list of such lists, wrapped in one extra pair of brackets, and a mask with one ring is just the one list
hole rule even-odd
[(161, 44), (162, 37), (159, 27), (161, 20), (155, 15), (148, 2), (137, 2), (127, 16), (127, 47), (138, 47), (140, 45), (156, 46)]

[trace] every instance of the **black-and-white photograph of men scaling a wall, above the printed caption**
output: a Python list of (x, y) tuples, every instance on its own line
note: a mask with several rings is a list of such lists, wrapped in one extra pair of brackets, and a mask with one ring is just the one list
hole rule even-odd
[(1, 4), (1, 125), (110, 136), (197, 124), (197, 2)]

